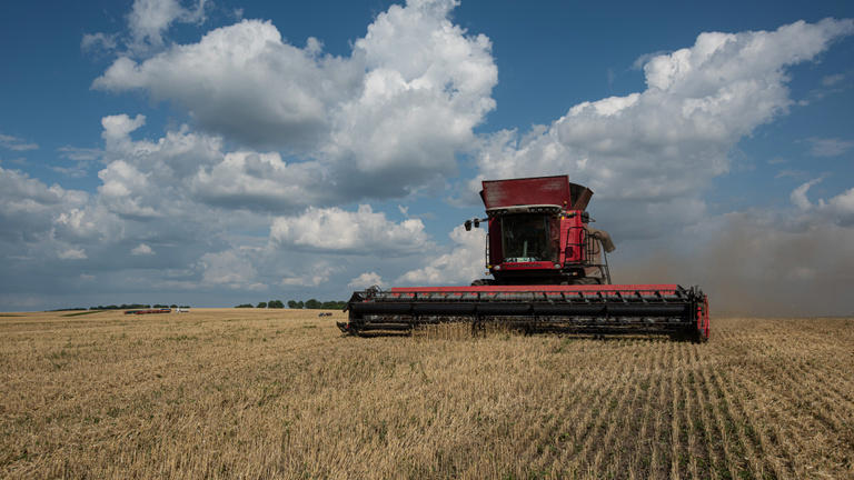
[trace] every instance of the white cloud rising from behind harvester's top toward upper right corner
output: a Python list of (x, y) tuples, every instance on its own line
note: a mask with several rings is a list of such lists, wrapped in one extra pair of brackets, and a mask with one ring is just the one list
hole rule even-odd
[(626, 231), (648, 227), (640, 210), (662, 204), (683, 224), (699, 221), (711, 180), (729, 170), (731, 149), (792, 106), (786, 68), (852, 32), (852, 20), (827, 19), (702, 33), (691, 48), (649, 58), (642, 92), (579, 103), (526, 134), (493, 134), (478, 153), (478, 179), (568, 173), (596, 191), (595, 210), (629, 212), (626, 220), (636, 220)]

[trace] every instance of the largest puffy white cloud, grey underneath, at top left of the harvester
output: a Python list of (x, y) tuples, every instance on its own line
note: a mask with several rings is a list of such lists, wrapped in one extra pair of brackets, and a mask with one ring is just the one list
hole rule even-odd
[(455, 6), (391, 6), (348, 57), (242, 20), (146, 60), (122, 56), (92, 87), (145, 91), (207, 132), (292, 154), (288, 164), (322, 172), (342, 199), (400, 197), (454, 174), (495, 108), (491, 43), (450, 22)]

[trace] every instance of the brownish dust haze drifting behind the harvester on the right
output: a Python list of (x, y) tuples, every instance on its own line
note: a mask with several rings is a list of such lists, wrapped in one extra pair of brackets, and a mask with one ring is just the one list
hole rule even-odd
[(691, 253), (658, 250), (612, 264), (614, 281), (698, 284), (713, 314), (854, 314), (854, 231), (731, 213), (706, 237)]

